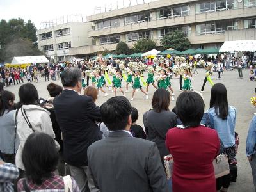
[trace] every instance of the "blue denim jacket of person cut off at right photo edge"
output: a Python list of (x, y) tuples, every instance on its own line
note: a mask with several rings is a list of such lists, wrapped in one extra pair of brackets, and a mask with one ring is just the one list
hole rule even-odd
[(252, 118), (252, 122), (249, 127), (247, 139), (246, 139), (246, 156), (255, 154), (256, 145), (256, 116)]

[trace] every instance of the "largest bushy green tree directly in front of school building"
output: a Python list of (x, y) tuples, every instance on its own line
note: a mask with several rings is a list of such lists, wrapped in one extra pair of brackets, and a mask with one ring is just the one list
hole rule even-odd
[(173, 33), (167, 33), (167, 35), (161, 38), (161, 45), (164, 49), (173, 48), (178, 51), (184, 51), (191, 47), (188, 37), (181, 31), (173, 31)]

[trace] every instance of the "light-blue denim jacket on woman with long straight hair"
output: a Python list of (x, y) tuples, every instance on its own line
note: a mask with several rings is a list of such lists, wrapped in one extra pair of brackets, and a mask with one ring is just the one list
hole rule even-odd
[(218, 117), (214, 107), (208, 109), (206, 113), (212, 115), (214, 119), (214, 129), (218, 132), (224, 147), (232, 147), (235, 145), (236, 108), (228, 106), (228, 116), (225, 120)]

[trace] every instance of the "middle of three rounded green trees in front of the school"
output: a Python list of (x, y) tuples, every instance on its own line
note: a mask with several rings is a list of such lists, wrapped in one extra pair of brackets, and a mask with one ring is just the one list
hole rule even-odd
[(134, 52), (148, 52), (156, 48), (156, 42), (152, 39), (141, 39), (133, 44)]

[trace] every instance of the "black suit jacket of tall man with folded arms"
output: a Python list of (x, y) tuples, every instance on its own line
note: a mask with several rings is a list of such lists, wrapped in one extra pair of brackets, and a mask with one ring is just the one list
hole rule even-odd
[(101, 121), (100, 108), (92, 97), (64, 90), (53, 101), (57, 122), (63, 134), (65, 161), (73, 166), (88, 166), (87, 148), (102, 138), (95, 121)]

